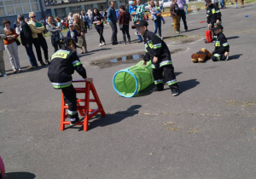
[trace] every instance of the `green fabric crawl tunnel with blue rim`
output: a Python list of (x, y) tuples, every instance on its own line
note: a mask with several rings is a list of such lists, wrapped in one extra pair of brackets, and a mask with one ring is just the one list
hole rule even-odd
[(137, 95), (140, 90), (147, 88), (153, 82), (150, 61), (147, 62), (147, 66), (143, 66), (143, 61), (140, 61), (135, 66), (120, 70), (113, 75), (113, 88), (124, 97)]

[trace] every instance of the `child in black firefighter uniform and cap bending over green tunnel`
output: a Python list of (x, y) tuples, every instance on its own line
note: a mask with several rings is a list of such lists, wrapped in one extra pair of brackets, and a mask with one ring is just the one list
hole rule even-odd
[(170, 86), (172, 95), (178, 95), (179, 87), (174, 74), (174, 68), (172, 66), (172, 59), (170, 51), (166, 43), (154, 32), (148, 32), (148, 22), (146, 20), (137, 21), (133, 29), (137, 29), (137, 32), (144, 38), (144, 46), (146, 55), (143, 57), (143, 65), (147, 64), (147, 61), (152, 62), (152, 72), (154, 77), (154, 84), (156, 88), (153, 91), (164, 90), (163, 84), (163, 72), (167, 83)]

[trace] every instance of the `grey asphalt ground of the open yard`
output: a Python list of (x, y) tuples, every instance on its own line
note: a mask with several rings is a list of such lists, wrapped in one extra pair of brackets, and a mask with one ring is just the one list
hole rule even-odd
[[(94, 78), (107, 117), (97, 115), (86, 132), (80, 126), (60, 131), (61, 91), (49, 83), (47, 66), (13, 74), (4, 52), (9, 75), (0, 78), (0, 155), (6, 178), (255, 178), (255, 8), (250, 3), (221, 10), (230, 61), (190, 61), (201, 48), (214, 49), (203, 41), (204, 10), (187, 15), (189, 32), (180, 36), (166, 17), (162, 33), (169, 49), (183, 49), (172, 55), (181, 89), (176, 97), (167, 86), (162, 92), (148, 88), (132, 98), (119, 96), (113, 74), (136, 61), (90, 64), (141, 54), (143, 43), (137, 43), (131, 30), (133, 43), (112, 46), (107, 25), (108, 44), (100, 48), (97, 32), (90, 30), (90, 53), (80, 60)], [(20, 65), (29, 66), (24, 47), (19, 47), (19, 56)], [(80, 77), (75, 73), (73, 78)]]

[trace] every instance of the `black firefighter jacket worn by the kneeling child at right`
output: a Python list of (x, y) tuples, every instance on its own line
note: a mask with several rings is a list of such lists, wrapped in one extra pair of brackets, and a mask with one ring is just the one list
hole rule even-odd
[(230, 51), (230, 44), (228, 43), (227, 38), (224, 36), (223, 32), (220, 32), (217, 35), (215, 42), (215, 49), (212, 52), (213, 54), (224, 54), (225, 52)]

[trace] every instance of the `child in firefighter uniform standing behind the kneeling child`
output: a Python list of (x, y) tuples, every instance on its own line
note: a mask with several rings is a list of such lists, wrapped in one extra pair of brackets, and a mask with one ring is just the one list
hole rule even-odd
[[(218, 5), (212, 3), (212, 0), (206, 0), (207, 7), (207, 24), (208, 28), (213, 28), (215, 24), (221, 24), (221, 13), (218, 9)], [(213, 32), (213, 31), (212, 31)], [(213, 32), (213, 40), (217, 38), (216, 34)]]

